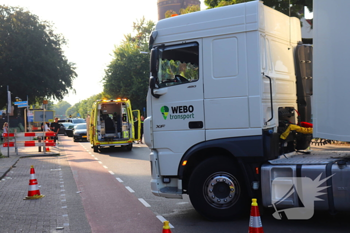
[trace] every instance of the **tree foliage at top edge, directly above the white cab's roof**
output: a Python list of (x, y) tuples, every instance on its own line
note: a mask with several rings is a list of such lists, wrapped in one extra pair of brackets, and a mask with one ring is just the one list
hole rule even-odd
[[(232, 5), (251, 0), (204, 0), (204, 4), (209, 8)], [(286, 15), (289, 15), (289, 0), (264, 0), (264, 5), (267, 5), (275, 10), (278, 10)], [(300, 17), (298, 13), (304, 6), (312, 12), (312, 0), (290, 0), (290, 16)]]

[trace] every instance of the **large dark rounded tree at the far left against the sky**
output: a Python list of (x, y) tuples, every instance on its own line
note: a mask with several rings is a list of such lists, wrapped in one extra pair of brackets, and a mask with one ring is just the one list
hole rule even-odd
[(73, 90), (74, 64), (63, 54), (64, 37), (52, 28), (22, 8), (0, 6), (0, 108), (7, 85), (12, 96), (29, 102), (61, 100)]

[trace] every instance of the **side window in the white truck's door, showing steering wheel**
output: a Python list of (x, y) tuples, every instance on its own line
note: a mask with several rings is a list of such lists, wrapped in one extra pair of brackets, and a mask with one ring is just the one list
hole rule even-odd
[(170, 45), (159, 49), (158, 87), (198, 80), (198, 43)]

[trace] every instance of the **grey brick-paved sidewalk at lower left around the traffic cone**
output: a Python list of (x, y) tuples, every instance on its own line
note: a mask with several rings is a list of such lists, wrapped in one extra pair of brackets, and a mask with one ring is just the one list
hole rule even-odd
[[(37, 153), (37, 147), (31, 152), (18, 150), (18, 155), (13, 150), (9, 158), (0, 159), (0, 171), (8, 170), (0, 179), (1, 233), (91, 233), (64, 150), (59, 155), (60, 147), (45, 154)], [(3, 147), (1, 152), (4, 155)], [(30, 165), (40, 194), (45, 195), (42, 199), (23, 200), (28, 194)]]

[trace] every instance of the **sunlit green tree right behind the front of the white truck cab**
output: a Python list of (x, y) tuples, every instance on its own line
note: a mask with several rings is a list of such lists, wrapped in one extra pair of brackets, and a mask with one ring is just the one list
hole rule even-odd
[(124, 35), (122, 43), (115, 47), (114, 58), (105, 70), (103, 91), (112, 98), (128, 98), (133, 109), (146, 106), (149, 80), (148, 38), (154, 22), (144, 17), (133, 23), (134, 36)]

